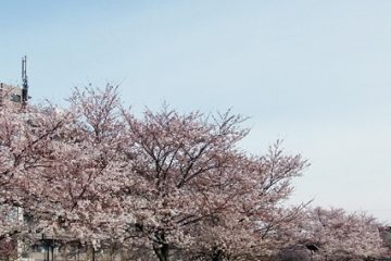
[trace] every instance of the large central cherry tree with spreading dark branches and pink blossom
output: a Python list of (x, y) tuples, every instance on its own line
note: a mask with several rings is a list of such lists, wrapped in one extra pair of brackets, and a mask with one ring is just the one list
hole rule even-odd
[(199, 246), (220, 260), (248, 253), (250, 239), (254, 249), (267, 243), (277, 203), (306, 165), (300, 156), (285, 156), (279, 144), (262, 157), (240, 150), (248, 129), (240, 127), (243, 117), (229, 112), (206, 117), (164, 108), (141, 120), (128, 111), (124, 116), (125, 153), (134, 162), (130, 237), (149, 243), (161, 261), (171, 249)]

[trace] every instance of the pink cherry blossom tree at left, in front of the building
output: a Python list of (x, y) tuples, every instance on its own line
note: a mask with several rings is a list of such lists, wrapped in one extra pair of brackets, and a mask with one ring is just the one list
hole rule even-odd
[(31, 217), (29, 224), (12, 219), (13, 226), (2, 225), (3, 237), (27, 231), (97, 247), (119, 234), (110, 233), (123, 227), (116, 194), (126, 185), (121, 171), (126, 163), (116, 153), (121, 125), (114, 92), (110, 86), (76, 90), (63, 110), (1, 108), (1, 204)]

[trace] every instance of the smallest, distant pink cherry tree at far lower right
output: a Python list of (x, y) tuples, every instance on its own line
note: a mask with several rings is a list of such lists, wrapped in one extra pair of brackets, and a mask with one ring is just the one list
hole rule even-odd
[(314, 208), (300, 220), (298, 238), (302, 244), (316, 245), (328, 260), (378, 258), (386, 253), (380, 226), (366, 213)]

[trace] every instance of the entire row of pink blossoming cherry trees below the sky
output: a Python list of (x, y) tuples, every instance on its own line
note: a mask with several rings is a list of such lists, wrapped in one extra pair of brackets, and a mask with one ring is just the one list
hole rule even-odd
[[(112, 86), (76, 89), (68, 102), (0, 108), (0, 239), (45, 233), (161, 261), (262, 260), (303, 240), (328, 254), (381, 247), (370, 217), (287, 208), (307, 162), (280, 141), (262, 156), (241, 150), (241, 115), (163, 107), (138, 117)], [(24, 222), (7, 217), (16, 208)], [(363, 236), (375, 244), (357, 244)]]

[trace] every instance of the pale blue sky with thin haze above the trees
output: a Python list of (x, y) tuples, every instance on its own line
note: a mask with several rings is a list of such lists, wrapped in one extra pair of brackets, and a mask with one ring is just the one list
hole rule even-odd
[(34, 101), (121, 83), (136, 110), (251, 116), (243, 141), (277, 138), (312, 165), (293, 201), (368, 210), (391, 223), (391, 1), (0, 2), (0, 80)]

